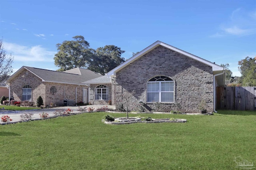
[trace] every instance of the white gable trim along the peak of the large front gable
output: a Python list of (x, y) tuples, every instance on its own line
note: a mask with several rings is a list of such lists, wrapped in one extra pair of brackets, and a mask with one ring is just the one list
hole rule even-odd
[(159, 45), (162, 45), (163, 47), (166, 47), (168, 49), (171, 49), (172, 51), (176, 51), (177, 53), (180, 53), (182, 55), (185, 55), (187, 57), (190, 57), (196, 61), (199, 61), (201, 63), (204, 63), (208, 66), (212, 66), (212, 71), (219, 71), (219, 70), (224, 70), (224, 68), (222, 66), (219, 66), (218, 64), (212, 63), (210, 61), (207, 61), (205, 59), (202, 59), (200, 57), (197, 57), (195, 55), (192, 55), (186, 51), (183, 51), (181, 49), (178, 49), (176, 47), (173, 47), (171, 45), (168, 45), (166, 43), (163, 43), (161, 41), (156, 41), (155, 43), (153, 43), (152, 45), (148, 46), (146, 49), (140, 51), (140, 53), (134, 55), (133, 57), (131, 57), (130, 59), (126, 60), (124, 63), (120, 64), (119, 66), (117, 66), (116, 68), (114, 68), (113, 70), (111, 70), (110, 72), (107, 73), (108, 76), (116, 76), (116, 72), (118, 72), (119, 70), (121, 70), (122, 68), (124, 68), (125, 66), (127, 66), (128, 64), (136, 61), (137, 59), (139, 59), (140, 57), (142, 57), (144, 54), (148, 53), (149, 51), (153, 50), (154, 48), (158, 47)]

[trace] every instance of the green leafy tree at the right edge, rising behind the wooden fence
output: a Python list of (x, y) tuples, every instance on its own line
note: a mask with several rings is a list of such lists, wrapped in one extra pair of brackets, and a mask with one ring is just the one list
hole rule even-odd
[(243, 86), (256, 86), (256, 63), (255, 59), (246, 57), (238, 61), (238, 70), (242, 74), (241, 81)]

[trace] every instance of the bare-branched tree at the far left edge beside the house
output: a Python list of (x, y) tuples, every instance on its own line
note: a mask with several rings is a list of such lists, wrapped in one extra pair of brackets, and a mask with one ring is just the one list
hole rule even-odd
[(6, 80), (12, 73), (12, 61), (12, 55), (10, 54), (9, 57), (6, 55), (3, 41), (0, 39), (0, 82)]

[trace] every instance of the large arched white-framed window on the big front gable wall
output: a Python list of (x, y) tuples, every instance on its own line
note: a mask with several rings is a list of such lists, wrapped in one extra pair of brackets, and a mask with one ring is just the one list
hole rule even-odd
[(174, 102), (174, 81), (166, 76), (155, 76), (147, 82), (147, 102)]

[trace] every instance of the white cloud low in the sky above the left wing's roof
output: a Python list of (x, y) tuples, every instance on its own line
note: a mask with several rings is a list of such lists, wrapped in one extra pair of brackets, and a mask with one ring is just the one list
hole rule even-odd
[(32, 47), (18, 45), (15, 43), (4, 43), (4, 49), (8, 53), (12, 53), (14, 61), (19, 62), (53, 62), (55, 51), (48, 51), (41, 45)]

